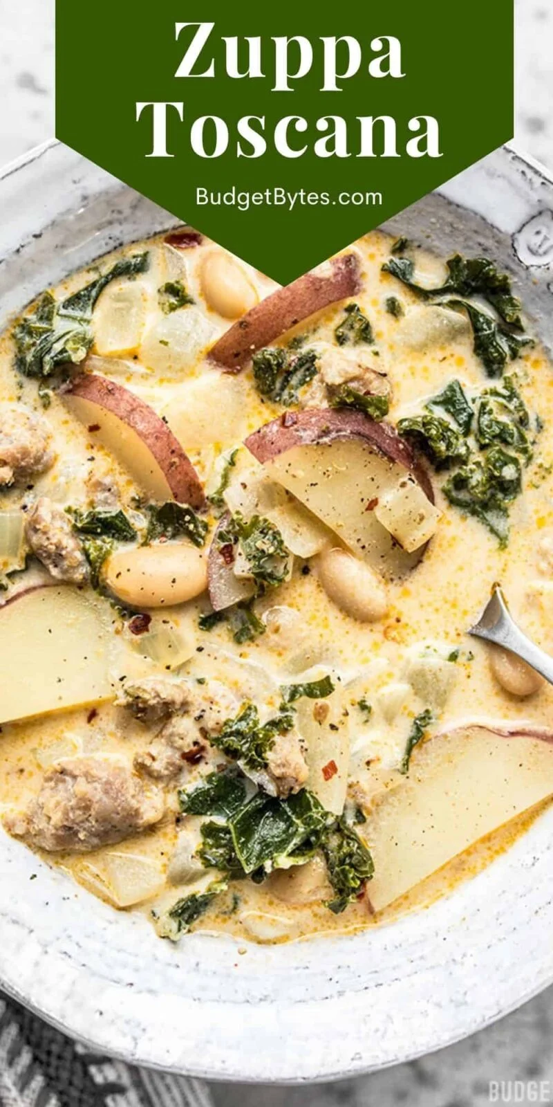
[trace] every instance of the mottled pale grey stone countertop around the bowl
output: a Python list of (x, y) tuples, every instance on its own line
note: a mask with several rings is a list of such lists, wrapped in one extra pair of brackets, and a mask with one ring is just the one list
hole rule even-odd
[[(517, 141), (553, 169), (551, 0), (517, 0)], [(3, 165), (53, 134), (53, 0), (0, 0), (0, 103)], [(217, 1107), (483, 1107), (490, 1082), (502, 1080), (522, 1082), (522, 1104), (535, 1101), (535, 1082), (551, 1082), (541, 1101), (553, 1101), (553, 989), (458, 1045), (368, 1077), (286, 1089), (213, 1084), (211, 1092)]]

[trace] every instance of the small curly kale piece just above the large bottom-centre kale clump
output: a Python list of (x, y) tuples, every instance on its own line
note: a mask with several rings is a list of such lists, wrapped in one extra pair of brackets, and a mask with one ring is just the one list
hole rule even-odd
[(242, 762), (248, 768), (263, 769), (275, 738), (288, 734), (293, 725), (293, 712), (285, 704), (278, 715), (261, 723), (255, 705), (247, 703), (236, 718), (227, 720), (219, 734), (210, 735), (209, 741), (227, 757)]

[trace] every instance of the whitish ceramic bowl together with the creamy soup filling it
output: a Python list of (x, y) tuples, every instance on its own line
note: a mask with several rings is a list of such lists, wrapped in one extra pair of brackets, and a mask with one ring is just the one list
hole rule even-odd
[(285, 289), (60, 144), (0, 190), (2, 986), (267, 1082), (504, 1014), (553, 692), (469, 631), (500, 582), (552, 649), (552, 184), (499, 151)]

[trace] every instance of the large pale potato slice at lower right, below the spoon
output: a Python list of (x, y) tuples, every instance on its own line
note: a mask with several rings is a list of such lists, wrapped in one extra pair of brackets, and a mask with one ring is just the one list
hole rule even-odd
[(546, 727), (467, 722), (429, 738), (362, 828), (375, 862), (372, 908), (388, 907), (552, 794), (553, 731)]

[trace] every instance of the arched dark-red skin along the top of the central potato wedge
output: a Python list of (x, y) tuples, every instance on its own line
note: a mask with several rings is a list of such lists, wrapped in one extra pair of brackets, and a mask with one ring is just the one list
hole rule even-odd
[(244, 445), (264, 465), (294, 446), (324, 445), (336, 438), (363, 438), (384, 457), (404, 465), (434, 504), (434, 488), (428, 473), (409, 444), (398, 435), (392, 423), (376, 423), (363, 412), (343, 407), (306, 407), (304, 411), (285, 412), (250, 434)]

